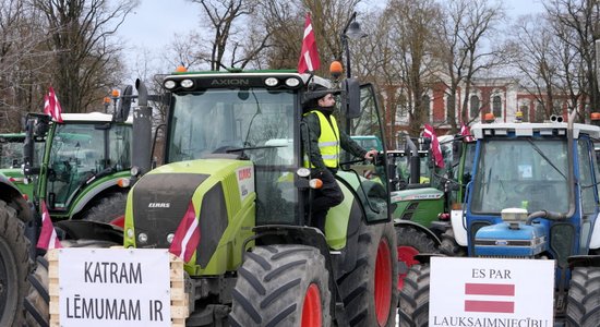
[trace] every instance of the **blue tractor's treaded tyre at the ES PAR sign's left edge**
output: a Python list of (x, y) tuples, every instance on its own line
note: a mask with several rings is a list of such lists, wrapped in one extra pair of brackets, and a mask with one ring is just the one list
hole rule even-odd
[(412, 266), (400, 291), (399, 327), (429, 326), (429, 265)]

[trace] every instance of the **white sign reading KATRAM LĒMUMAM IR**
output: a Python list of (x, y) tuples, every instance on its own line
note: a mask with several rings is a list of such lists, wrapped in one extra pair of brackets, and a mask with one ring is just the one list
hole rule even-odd
[(167, 250), (59, 250), (60, 326), (170, 326)]

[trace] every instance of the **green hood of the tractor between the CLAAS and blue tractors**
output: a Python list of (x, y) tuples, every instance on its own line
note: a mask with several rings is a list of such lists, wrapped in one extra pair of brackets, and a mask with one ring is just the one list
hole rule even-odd
[(444, 192), (434, 187), (408, 189), (392, 192), (392, 204), (396, 204), (393, 217), (411, 220), (424, 227), (444, 211)]

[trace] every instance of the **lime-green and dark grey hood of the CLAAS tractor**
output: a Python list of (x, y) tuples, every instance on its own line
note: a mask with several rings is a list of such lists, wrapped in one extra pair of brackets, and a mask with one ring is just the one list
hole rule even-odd
[(192, 204), (201, 232), (195, 264), (206, 266), (228, 227), (228, 211), (252, 201), (252, 194), (250, 161), (202, 159), (161, 166), (130, 191), (124, 246), (169, 247)]

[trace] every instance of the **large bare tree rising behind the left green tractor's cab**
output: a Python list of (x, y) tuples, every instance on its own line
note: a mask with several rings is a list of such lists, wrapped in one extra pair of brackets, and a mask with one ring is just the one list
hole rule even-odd
[(118, 84), (120, 48), (110, 41), (137, 0), (34, 0), (46, 17), (55, 51), (52, 86), (65, 112), (99, 106)]

